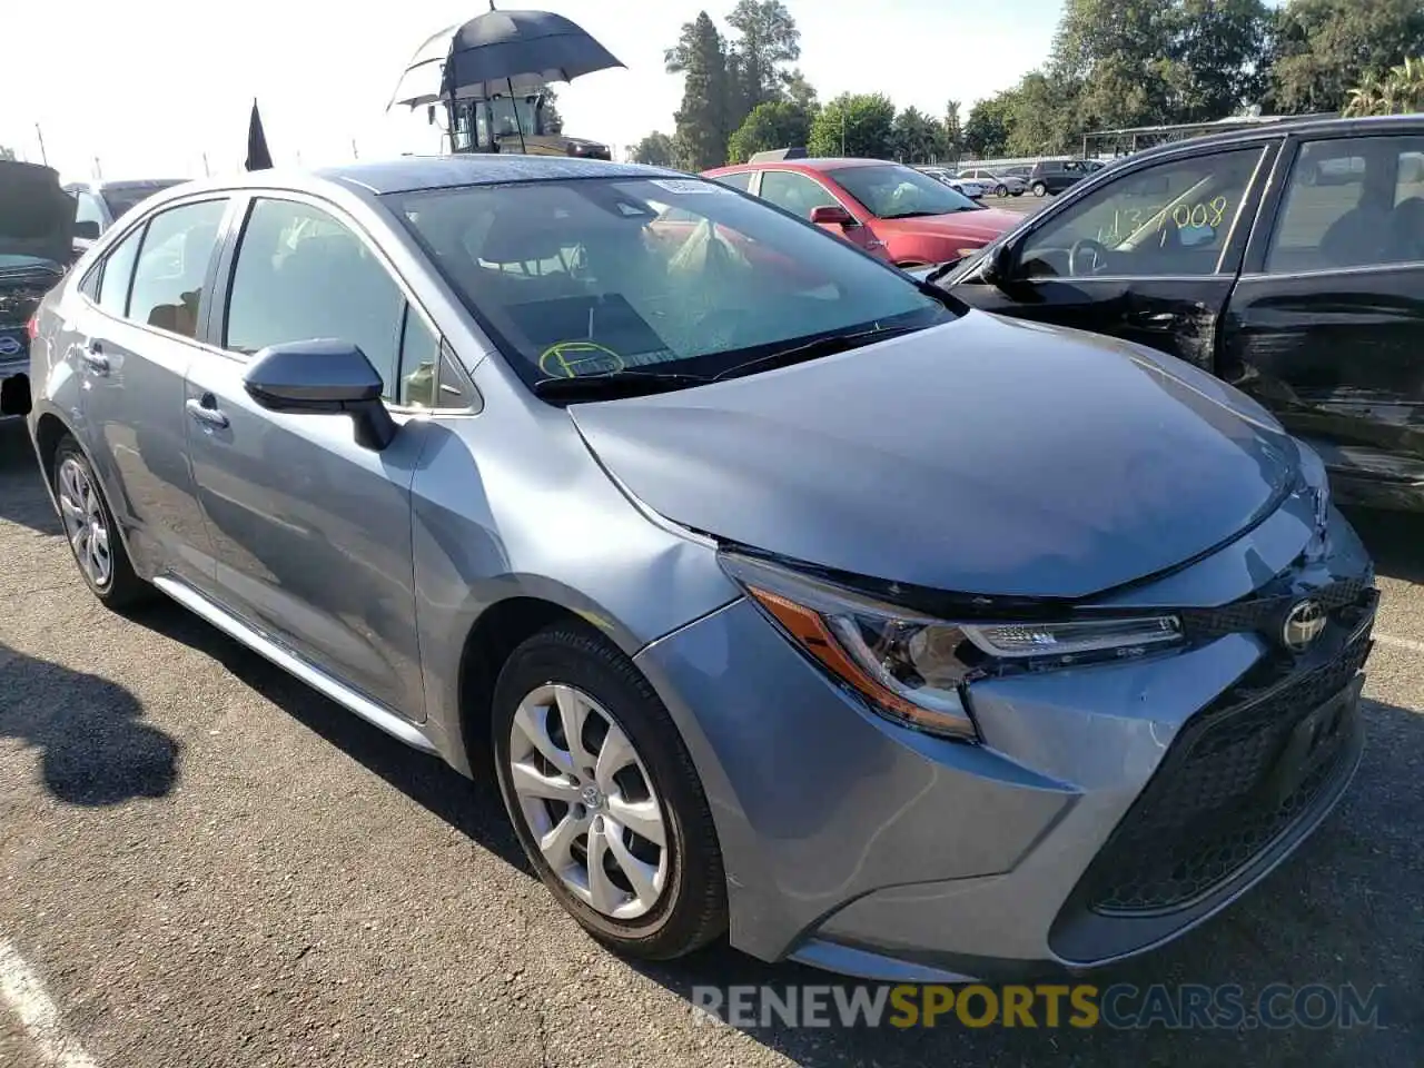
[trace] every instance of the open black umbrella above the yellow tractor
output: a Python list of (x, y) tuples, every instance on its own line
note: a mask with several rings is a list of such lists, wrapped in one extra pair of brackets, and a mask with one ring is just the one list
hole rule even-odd
[[(491, 100), (506, 91), (513, 98), (537, 93), (550, 81), (622, 66), (564, 16), (496, 11), (491, 0), (484, 14), (446, 27), (416, 50), (390, 107)], [(523, 135), (521, 130), (521, 141)]]

